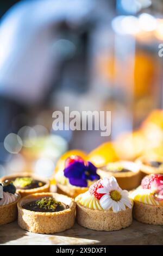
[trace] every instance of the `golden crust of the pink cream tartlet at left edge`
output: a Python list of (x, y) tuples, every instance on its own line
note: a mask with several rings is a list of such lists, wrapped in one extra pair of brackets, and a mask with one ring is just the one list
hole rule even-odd
[(0, 225), (13, 222), (17, 219), (17, 203), (21, 196), (18, 194), (15, 202), (0, 206)]

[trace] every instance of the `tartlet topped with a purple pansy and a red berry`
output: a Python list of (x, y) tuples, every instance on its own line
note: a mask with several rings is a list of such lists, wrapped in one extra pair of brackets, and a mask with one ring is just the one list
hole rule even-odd
[(65, 160), (64, 170), (55, 174), (58, 193), (75, 198), (84, 193), (89, 186), (99, 179), (97, 168), (91, 162), (84, 161), (82, 157), (72, 155)]

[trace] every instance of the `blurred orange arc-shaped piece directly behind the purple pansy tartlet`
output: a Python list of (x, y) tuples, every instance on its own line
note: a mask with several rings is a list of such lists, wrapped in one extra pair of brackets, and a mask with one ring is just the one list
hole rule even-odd
[(86, 153), (84, 151), (78, 149), (69, 150), (64, 155), (62, 155), (57, 161), (55, 166), (55, 173), (57, 173), (58, 170), (64, 170), (65, 160), (67, 159), (67, 157), (71, 155), (81, 156), (84, 160), (86, 160)]

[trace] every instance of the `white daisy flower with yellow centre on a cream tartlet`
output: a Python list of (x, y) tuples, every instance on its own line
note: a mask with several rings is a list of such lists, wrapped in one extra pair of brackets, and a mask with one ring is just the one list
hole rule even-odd
[(112, 211), (125, 211), (126, 206), (131, 209), (132, 202), (128, 197), (128, 191), (122, 190), (116, 179), (111, 176), (109, 179), (104, 178), (101, 180), (102, 188), (98, 188), (97, 193), (104, 194), (99, 200), (100, 205), (104, 210), (109, 210), (112, 207)]

